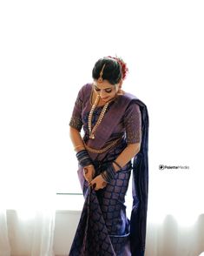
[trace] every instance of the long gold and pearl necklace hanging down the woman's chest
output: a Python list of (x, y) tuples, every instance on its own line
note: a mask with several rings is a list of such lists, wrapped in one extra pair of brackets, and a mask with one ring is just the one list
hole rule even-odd
[(101, 124), (102, 118), (104, 117), (104, 114), (105, 114), (105, 112), (106, 112), (106, 110), (107, 110), (107, 108), (109, 106), (109, 102), (103, 106), (102, 112), (101, 112), (101, 114), (100, 114), (100, 116), (99, 116), (99, 118), (98, 118), (98, 120), (97, 120), (97, 122), (96, 122), (96, 124), (95, 124), (95, 126), (93, 128), (93, 130), (91, 130), (91, 123), (92, 123), (91, 121), (92, 121), (92, 117), (93, 117), (93, 113), (94, 113), (95, 107), (96, 107), (96, 105), (99, 102), (99, 98), (100, 98), (100, 96), (97, 95), (96, 98), (95, 98), (95, 103), (92, 105), (92, 108), (91, 108), (91, 110), (89, 112), (89, 120), (88, 120), (89, 138), (92, 138), (92, 139), (95, 139), (95, 134), (94, 134), (95, 130), (97, 129), (98, 125)]

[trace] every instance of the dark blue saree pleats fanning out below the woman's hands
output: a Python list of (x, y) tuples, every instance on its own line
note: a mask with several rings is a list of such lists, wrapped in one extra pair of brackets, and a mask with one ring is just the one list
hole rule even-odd
[(91, 188), (88, 188), (85, 195), (82, 216), (69, 255), (116, 255), (95, 191)]

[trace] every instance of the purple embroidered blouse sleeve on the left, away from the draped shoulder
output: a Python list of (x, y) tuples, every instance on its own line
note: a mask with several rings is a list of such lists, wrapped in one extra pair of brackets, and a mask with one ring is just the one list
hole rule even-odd
[(78, 92), (69, 126), (78, 131), (82, 130), (82, 89)]

